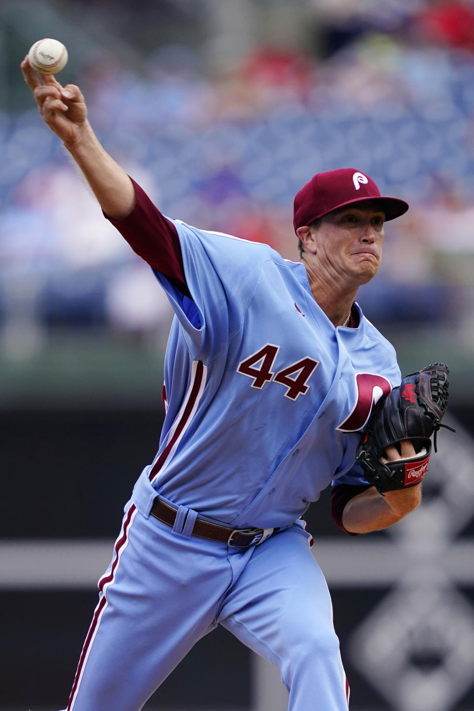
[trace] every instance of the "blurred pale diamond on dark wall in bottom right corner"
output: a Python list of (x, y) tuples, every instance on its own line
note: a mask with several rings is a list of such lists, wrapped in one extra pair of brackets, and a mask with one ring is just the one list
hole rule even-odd
[(454, 589), (396, 589), (360, 625), (351, 661), (397, 711), (449, 711), (473, 683), (474, 609)]

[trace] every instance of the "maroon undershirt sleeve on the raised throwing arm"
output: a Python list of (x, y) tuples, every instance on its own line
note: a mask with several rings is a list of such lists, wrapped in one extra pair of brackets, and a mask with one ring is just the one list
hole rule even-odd
[(112, 220), (107, 215), (105, 217), (119, 230), (139, 257), (161, 272), (190, 299), (176, 227), (153, 205), (149, 196), (133, 178), (131, 182), (134, 183), (136, 194), (134, 209), (122, 220)]

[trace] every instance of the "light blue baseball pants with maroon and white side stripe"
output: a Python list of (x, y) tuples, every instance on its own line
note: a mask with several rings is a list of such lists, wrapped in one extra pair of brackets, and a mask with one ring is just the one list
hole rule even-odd
[(289, 710), (347, 711), (328, 587), (303, 522), (242, 550), (191, 537), (193, 511), (171, 530), (149, 515), (155, 496), (142, 476), (99, 581), (68, 710), (139, 711), (222, 624), (280, 669)]

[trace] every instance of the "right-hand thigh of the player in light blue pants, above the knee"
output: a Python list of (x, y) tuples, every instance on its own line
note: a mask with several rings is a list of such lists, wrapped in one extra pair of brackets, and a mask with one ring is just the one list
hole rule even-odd
[(280, 667), (296, 653), (339, 659), (328, 586), (298, 524), (256, 548), (219, 621)]

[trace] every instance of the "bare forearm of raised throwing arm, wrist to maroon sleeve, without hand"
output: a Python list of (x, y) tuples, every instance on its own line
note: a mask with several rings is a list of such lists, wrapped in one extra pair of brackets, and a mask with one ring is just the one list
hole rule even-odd
[(131, 213), (135, 189), (129, 176), (102, 148), (87, 122), (80, 136), (65, 147), (84, 174), (104, 213), (119, 220)]

